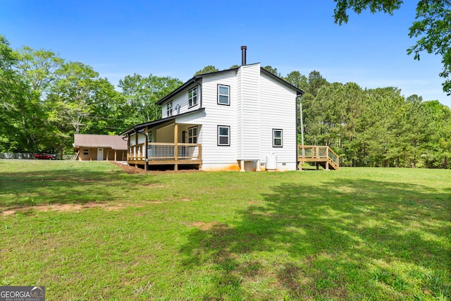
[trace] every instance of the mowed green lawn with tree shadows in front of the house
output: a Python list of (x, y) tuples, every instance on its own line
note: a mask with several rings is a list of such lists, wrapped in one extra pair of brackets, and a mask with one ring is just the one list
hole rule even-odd
[(451, 300), (451, 171), (0, 161), (0, 285), (47, 300)]

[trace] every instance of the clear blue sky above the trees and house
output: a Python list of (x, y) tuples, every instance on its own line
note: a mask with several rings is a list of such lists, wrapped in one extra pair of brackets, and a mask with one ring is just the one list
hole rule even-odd
[(113, 85), (133, 73), (185, 81), (207, 65), (230, 68), (246, 45), (247, 63), (282, 75), (318, 70), (329, 82), (398, 87), (451, 107), (440, 56), (406, 53), (416, 42), (407, 34), (417, 1), (404, 2), (394, 16), (351, 13), (338, 26), (333, 0), (0, 0), (0, 34), (13, 49), (49, 49), (92, 66)]

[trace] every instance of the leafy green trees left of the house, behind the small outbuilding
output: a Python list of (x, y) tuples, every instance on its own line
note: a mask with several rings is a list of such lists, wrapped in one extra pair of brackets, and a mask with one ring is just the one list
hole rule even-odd
[(70, 154), (75, 133), (116, 135), (161, 117), (155, 102), (182, 82), (127, 75), (122, 92), (52, 51), (13, 50), (0, 35), (0, 152)]

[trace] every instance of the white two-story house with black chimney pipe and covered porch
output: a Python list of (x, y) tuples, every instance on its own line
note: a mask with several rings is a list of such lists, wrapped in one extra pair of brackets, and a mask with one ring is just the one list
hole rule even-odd
[(259, 63), (247, 65), (245, 51), (242, 66), (194, 76), (157, 102), (161, 119), (125, 130), (128, 164), (295, 170), (296, 103), (303, 92)]

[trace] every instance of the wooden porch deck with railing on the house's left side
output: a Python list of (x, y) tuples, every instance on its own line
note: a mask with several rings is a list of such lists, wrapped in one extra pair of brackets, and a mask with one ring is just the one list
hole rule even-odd
[[(147, 149), (147, 156), (146, 156)], [(142, 166), (144, 169), (152, 166), (173, 166), (178, 171), (179, 166), (194, 166), (202, 168), (202, 145), (194, 143), (159, 143), (149, 142), (130, 145), (127, 153), (129, 165)]]

